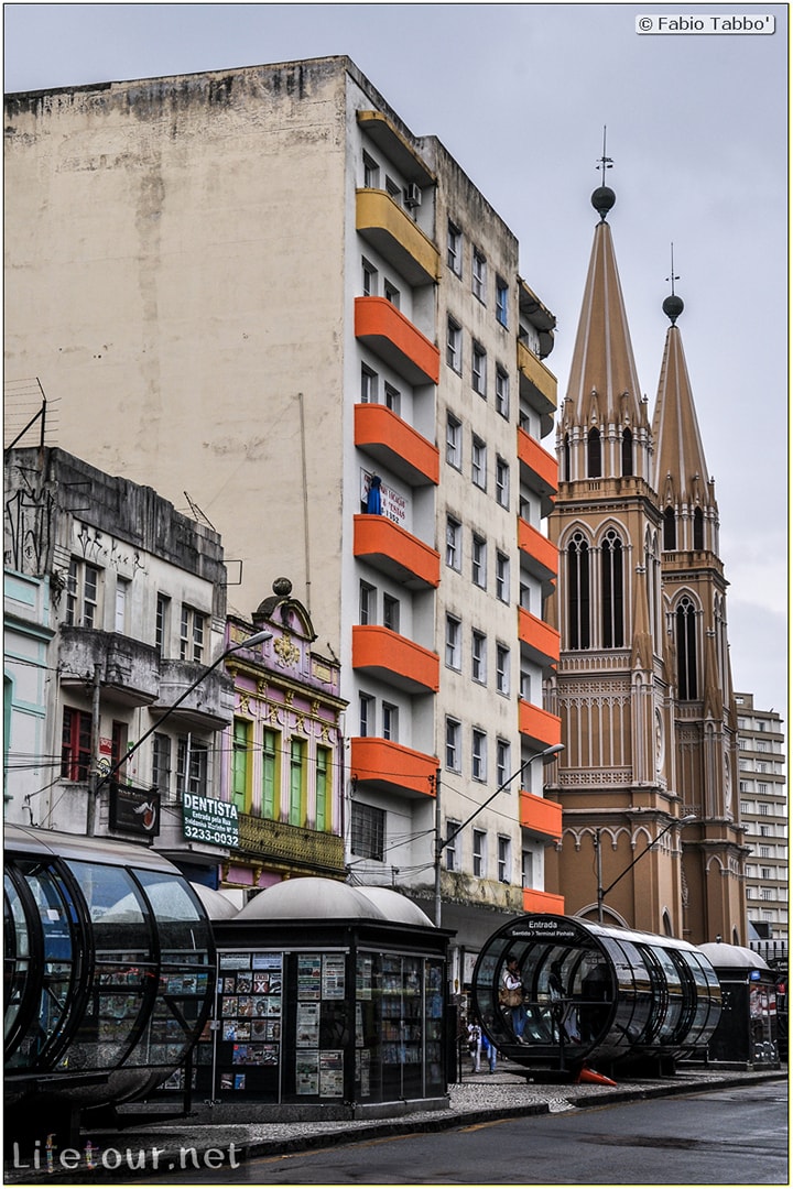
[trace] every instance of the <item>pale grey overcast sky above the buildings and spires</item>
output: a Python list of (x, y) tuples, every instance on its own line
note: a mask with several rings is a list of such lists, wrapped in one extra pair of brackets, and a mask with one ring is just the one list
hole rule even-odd
[[(775, 32), (636, 32), (638, 15), (692, 13), (770, 14)], [(606, 125), (640, 383), (653, 404), (674, 243), (734, 682), (786, 717), (787, 39), (779, 4), (7, 4), (5, 90), (348, 55), (516, 233), (521, 272), (558, 319), (560, 397)]]

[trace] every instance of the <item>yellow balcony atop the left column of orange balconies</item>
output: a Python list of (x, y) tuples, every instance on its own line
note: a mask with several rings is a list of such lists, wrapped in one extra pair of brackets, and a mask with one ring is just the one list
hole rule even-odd
[(438, 249), (385, 190), (355, 191), (355, 228), (408, 284), (438, 281)]

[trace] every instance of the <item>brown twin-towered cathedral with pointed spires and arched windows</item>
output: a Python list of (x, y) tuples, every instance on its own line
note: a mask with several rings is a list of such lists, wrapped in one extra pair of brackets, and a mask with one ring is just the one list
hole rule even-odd
[[(606, 161), (606, 158), (604, 158)], [(568, 914), (745, 944), (736, 710), (713, 479), (678, 320), (650, 416), (608, 222), (594, 229), (567, 395), (549, 536), (561, 635), (547, 709), (565, 751), (546, 794), (562, 809), (546, 887)]]

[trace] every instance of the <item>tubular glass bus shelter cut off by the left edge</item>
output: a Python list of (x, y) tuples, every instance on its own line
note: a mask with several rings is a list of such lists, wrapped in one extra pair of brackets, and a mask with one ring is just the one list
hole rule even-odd
[(201, 1033), (214, 970), (203, 906), (162, 855), (6, 824), (6, 1135), (162, 1082)]

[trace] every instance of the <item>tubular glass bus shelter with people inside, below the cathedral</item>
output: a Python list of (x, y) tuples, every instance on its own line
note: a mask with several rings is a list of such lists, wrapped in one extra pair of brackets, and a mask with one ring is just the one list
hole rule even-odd
[[(523, 993), (508, 1006), (502, 982), (511, 957)], [(629, 1061), (667, 1071), (676, 1057), (706, 1050), (722, 999), (713, 967), (687, 942), (539, 914), (492, 935), (471, 993), (498, 1049), (529, 1069), (567, 1072)]]

